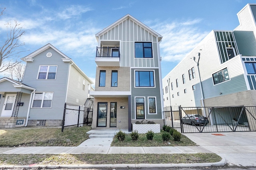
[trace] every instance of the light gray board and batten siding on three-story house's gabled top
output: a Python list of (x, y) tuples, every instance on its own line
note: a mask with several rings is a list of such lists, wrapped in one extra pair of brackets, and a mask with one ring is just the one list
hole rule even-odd
[[(158, 40), (144, 27), (127, 18), (102, 35), (100, 41), (121, 40), (120, 65), (127, 67), (158, 67)], [(152, 42), (153, 58), (135, 58), (134, 42)]]

